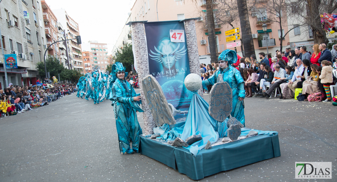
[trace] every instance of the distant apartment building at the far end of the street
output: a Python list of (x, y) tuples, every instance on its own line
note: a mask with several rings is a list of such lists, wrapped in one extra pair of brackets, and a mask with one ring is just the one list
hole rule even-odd
[(100, 67), (101, 71), (105, 71), (106, 66), (110, 64), (108, 55), (108, 44), (98, 43), (98, 41), (89, 41), (90, 50), (93, 56), (94, 67)]

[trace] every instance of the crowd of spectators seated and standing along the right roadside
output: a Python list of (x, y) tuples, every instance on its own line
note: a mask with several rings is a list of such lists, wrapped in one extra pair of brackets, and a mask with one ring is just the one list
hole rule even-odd
[[(296, 88), (302, 88), (301, 94), (305, 98), (320, 92), (320, 100), (331, 102), (330, 85), (337, 84), (337, 78), (333, 75), (333, 69), (337, 69), (337, 44), (333, 45), (332, 50), (329, 50), (326, 44), (314, 44), (312, 51), (311, 53), (306, 46), (302, 46), (296, 47), (295, 50), (286, 48), (285, 52), (276, 50), (274, 56), (266, 56), (264, 52), (260, 52), (259, 60), (255, 55), (251, 55), (250, 58), (238, 56), (237, 63), (232, 66), (240, 71), (245, 81), (245, 97), (268, 99), (276, 90), (280, 99), (290, 99), (294, 98)], [(217, 62), (207, 66), (201, 64), (202, 80), (208, 79), (217, 69)], [(205, 92), (207, 93), (207, 90), (204, 90)]]

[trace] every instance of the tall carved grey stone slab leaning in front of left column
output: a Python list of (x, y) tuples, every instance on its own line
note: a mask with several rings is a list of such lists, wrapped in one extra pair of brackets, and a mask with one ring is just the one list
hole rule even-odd
[(142, 85), (145, 100), (151, 110), (156, 126), (162, 126), (164, 123), (176, 124), (164, 92), (156, 78), (148, 75), (142, 80)]

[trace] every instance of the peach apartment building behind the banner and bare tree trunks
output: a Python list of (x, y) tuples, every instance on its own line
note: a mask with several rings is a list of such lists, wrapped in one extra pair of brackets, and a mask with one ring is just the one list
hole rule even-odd
[[(211, 62), (209, 44), (208, 44), (208, 30), (205, 28), (206, 20), (206, 4), (205, 1), (200, 1), (195, 3), (194, 1), (157, 1), (155, 0), (136, 0), (133, 7), (131, 8), (131, 13), (127, 21), (172, 21), (172, 20), (183, 20), (188, 18), (201, 17), (200, 20), (196, 21), (196, 34), (197, 34), (197, 43), (198, 43), (198, 52), (201, 63), (209, 64)], [(215, 6), (217, 6), (215, 4)], [(216, 11), (216, 7), (214, 11)], [(259, 13), (253, 13), (253, 16), (249, 17), (251, 32), (253, 35), (255, 54), (258, 56), (259, 52), (267, 53), (272, 55), (275, 54), (275, 50), (280, 49), (280, 32), (288, 31), (288, 24), (285, 21), (282, 24), (282, 30), (280, 30), (277, 23), (273, 23), (267, 20), (267, 17), (270, 16), (263, 5), (256, 7)], [(157, 16), (158, 11), (158, 16)], [(216, 12), (215, 12), (216, 13)], [(238, 17), (239, 19), (239, 17)], [(226, 44), (232, 43), (226, 42), (225, 31), (231, 30), (232, 27), (227, 25), (220, 25), (215, 22), (215, 34), (216, 34), (216, 43), (218, 53), (221, 53), (223, 50), (227, 49)], [(267, 24), (267, 32), (263, 32), (262, 25)], [(240, 23), (233, 23), (235, 28), (240, 28)], [(241, 35), (241, 34), (240, 34)], [(130, 26), (124, 26), (116, 47), (120, 49), (125, 43), (130, 42)], [(238, 41), (238, 40), (236, 40)], [(285, 36), (282, 41), (283, 50), (286, 47), (290, 47), (289, 43), (289, 34)], [(241, 47), (236, 47), (239, 56), (242, 56)], [(234, 50), (233, 48), (229, 48)], [(114, 53), (112, 51), (112, 53)], [(250, 55), (249, 55), (250, 56)]]

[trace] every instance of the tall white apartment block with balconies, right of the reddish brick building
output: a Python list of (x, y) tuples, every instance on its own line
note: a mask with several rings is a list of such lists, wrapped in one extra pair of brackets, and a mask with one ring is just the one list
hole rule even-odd
[[(74, 39), (80, 35), (79, 25), (66, 12), (65, 9), (54, 9), (55, 16), (58, 22), (63, 26), (64, 36), (67, 39)], [(59, 30), (60, 33), (60, 30)], [(66, 41), (65, 53), (67, 57), (66, 67), (83, 73), (82, 49), (81, 45), (77, 44), (76, 39)]]

